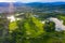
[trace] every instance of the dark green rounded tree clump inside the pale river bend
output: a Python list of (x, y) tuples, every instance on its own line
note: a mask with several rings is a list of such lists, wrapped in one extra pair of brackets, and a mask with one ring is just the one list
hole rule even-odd
[(53, 31), (55, 31), (55, 24), (53, 22), (46, 22), (46, 24), (44, 24), (44, 30), (47, 32), (53, 32)]

